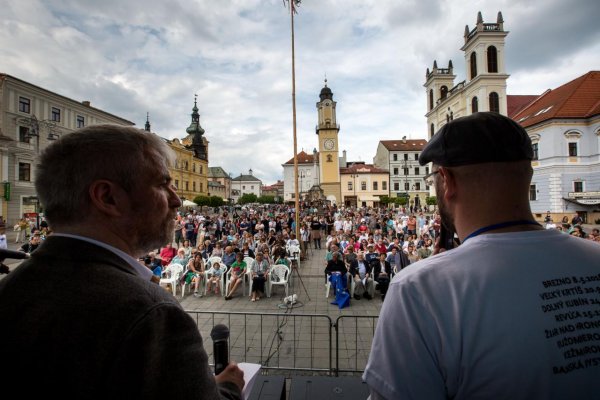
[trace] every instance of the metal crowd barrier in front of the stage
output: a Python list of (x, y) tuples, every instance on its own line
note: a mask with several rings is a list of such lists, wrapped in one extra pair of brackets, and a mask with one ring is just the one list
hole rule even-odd
[(261, 364), (262, 370), (280, 374), (310, 372), (329, 376), (364, 371), (378, 319), (377, 316), (340, 316), (333, 322), (322, 314), (187, 313), (196, 321), (211, 360), (210, 331), (217, 324), (225, 324), (230, 331), (232, 360)]

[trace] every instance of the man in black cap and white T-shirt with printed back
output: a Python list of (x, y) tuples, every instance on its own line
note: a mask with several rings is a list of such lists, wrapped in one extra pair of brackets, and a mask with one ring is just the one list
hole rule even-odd
[(600, 247), (533, 220), (532, 157), (497, 113), (449, 122), (421, 153), (462, 244), (390, 283), (363, 375), (372, 399), (598, 398)]

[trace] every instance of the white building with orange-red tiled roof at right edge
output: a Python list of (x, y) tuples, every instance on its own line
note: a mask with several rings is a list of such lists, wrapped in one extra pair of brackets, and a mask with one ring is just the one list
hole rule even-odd
[[(600, 218), (600, 71), (547, 90), (511, 115), (533, 143), (531, 208), (555, 222)], [(569, 218), (570, 220), (571, 218)]]

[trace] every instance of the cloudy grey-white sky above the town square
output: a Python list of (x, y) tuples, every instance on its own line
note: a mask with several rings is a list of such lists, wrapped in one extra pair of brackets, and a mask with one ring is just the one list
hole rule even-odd
[[(340, 147), (372, 162), (379, 140), (425, 138), (436, 59), (465, 79), (465, 25), (502, 11), (509, 94), (600, 68), (597, 0), (304, 0), (295, 17), (298, 151), (316, 146), (327, 76)], [(0, 0), (0, 72), (184, 137), (194, 94), (209, 165), (266, 184), (293, 156), (289, 12), (281, 0)]]

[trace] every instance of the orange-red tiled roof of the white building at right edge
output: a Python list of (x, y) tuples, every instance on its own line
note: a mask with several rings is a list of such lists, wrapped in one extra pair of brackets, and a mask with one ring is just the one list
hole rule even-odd
[(600, 114), (600, 71), (590, 71), (548, 90), (513, 119), (523, 127), (554, 118), (590, 118)]

